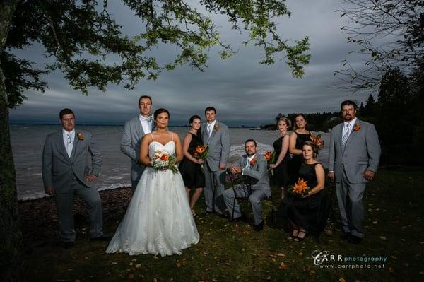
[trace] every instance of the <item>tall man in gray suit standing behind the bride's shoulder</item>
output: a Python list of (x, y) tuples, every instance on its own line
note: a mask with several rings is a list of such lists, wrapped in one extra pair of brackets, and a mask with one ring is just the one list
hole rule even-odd
[(141, 96), (139, 98), (140, 114), (125, 122), (124, 134), (122, 134), (121, 151), (131, 158), (131, 189), (133, 194), (146, 168), (139, 161), (139, 153), (141, 139), (146, 134), (151, 133), (153, 128), (151, 108), (152, 98), (147, 95)]

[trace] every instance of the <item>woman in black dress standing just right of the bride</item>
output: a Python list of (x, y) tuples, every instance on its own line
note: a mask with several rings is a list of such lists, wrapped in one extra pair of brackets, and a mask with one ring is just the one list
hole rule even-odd
[[(196, 216), (194, 212), (194, 205), (199, 199), (203, 187), (205, 186), (205, 175), (201, 165), (204, 160), (194, 158), (193, 152), (197, 146), (203, 146), (201, 140), (201, 118), (198, 115), (190, 117), (189, 120), (190, 129), (184, 136), (182, 141), (182, 153), (184, 159), (179, 163), (179, 172), (181, 172), (184, 185), (186, 187), (187, 197), (189, 198), (190, 208), (192, 209), (193, 216)], [(190, 190), (194, 189), (192, 200), (190, 200)]]

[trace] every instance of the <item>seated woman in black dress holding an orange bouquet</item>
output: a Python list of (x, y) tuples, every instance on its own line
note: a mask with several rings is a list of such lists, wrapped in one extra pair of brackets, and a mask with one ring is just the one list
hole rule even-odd
[(302, 155), (305, 163), (299, 170), (299, 177), (307, 181), (309, 192), (307, 196), (290, 196), (285, 204), (285, 216), (293, 228), (289, 239), (301, 241), (306, 233), (318, 234), (324, 230), (328, 208), (324, 194), (324, 167), (315, 158), (318, 148), (314, 143), (307, 141), (303, 145)]

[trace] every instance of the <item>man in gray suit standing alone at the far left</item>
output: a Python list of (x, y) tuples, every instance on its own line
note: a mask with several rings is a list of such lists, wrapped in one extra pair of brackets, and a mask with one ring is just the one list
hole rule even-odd
[(72, 247), (75, 242), (73, 194), (78, 194), (88, 206), (91, 240), (109, 240), (102, 233), (102, 202), (93, 187), (100, 173), (102, 155), (89, 131), (75, 129), (72, 110), (61, 110), (59, 118), (63, 129), (49, 134), (45, 141), (42, 180), (46, 194), (54, 195), (56, 200), (61, 245)]

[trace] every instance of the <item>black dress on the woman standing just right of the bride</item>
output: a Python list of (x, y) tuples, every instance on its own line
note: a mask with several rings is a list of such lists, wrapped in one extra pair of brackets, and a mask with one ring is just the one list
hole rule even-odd
[[(189, 134), (192, 133), (189, 132)], [(192, 134), (192, 141), (190, 141), (189, 149), (187, 151), (193, 155), (197, 146), (203, 146), (201, 137)], [(178, 169), (179, 172), (181, 172), (185, 187), (189, 189), (205, 187), (205, 175), (201, 165), (193, 163), (192, 160), (184, 157), (181, 163), (179, 163)]]

